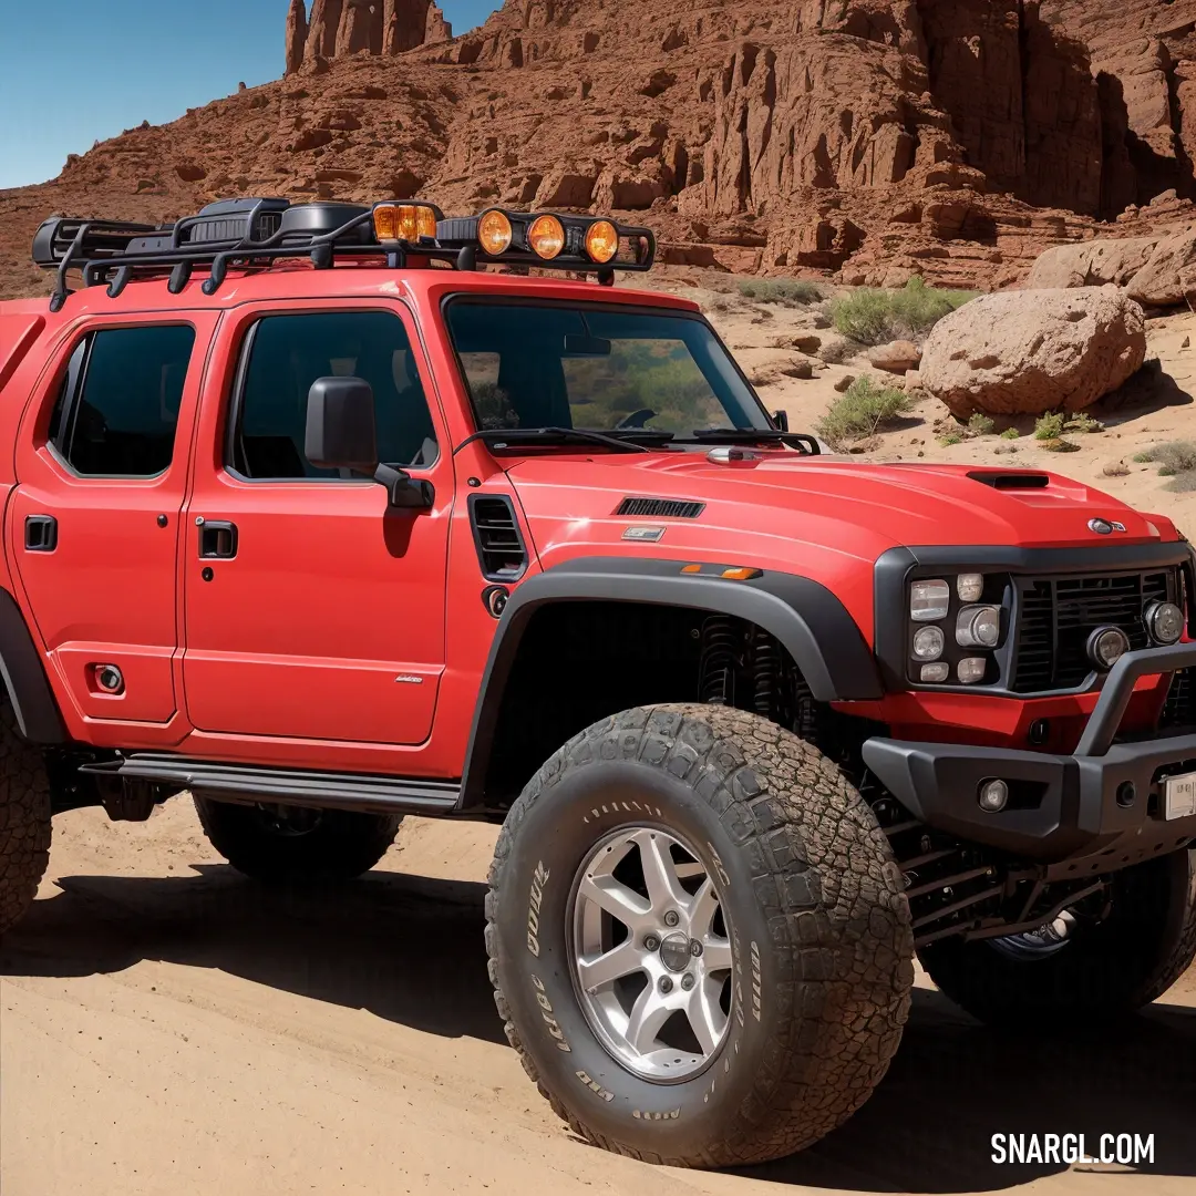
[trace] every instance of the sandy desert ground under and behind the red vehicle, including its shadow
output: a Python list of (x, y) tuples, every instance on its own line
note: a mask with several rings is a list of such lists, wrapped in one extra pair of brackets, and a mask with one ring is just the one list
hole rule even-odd
[[(696, 295), (770, 408), (810, 429), (862, 356), (776, 348), (836, 340), (817, 306)], [(1045, 452), (941, 444), (928, 396), (865, 445), (872, 459), (1049, 468), (1196, 532), (1196, 494), (1134, 457), (1196, 438), (1196, 316), (1149, 322), (1152, 385)], [(794, 370), (812, 365), (812, 377)], [(1009, 452), (1009, 445), (1015, 446)], [(1002, 453), (997, 454), (997, 450)], [(1116, 476), (1105, 476), (1113, 463)], [(660, 1171), (572, 1137), (507, 1046), (482, 945), (490, 828), (409, 820), (382, 867), (337, 890), (270, 891), (226, 867), (177, 799), (144, 825), (55, 824), (39, 901), (0, 947), (0, 1188), (120, 1192), (1196, 1191), (1196, 971), (1115, 1032), (987, 1030), (920, 977), (899, 1056), (872, 1102), (816, 1148), (739, 1173)], [(995, 1133), (1154, 1134), (1145, 1172), (996, 1166)]]

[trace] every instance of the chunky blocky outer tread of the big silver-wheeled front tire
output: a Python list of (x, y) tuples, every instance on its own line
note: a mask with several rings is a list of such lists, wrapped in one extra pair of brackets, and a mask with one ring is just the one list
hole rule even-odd
[[(824, 953), (836, 909), (853, 922), (864, 915), (865, 933), (854, 944), (853, 981), (871, 984), (887, 999), (862, 1013), (852, 1027), (825, 1018), (834, 1048), (805, 1082), (794, 1033), (771, 1044), (752, 1098), (734, 1130), (708, 1143), (697, 1158), (665, 1158), (603, 1136), (566, 1107), (541, 1080), (511, 1018), (499, 982), (496, 921), (504, 901), (504, 866), (514, 837), (535, 803), (550, 799), (554, 785), (594, 758), (637, 759), (689, 780), (731, 837), (757, 849), (753, 883), (765, 902), (780, 974), (774, 1002), (793, 1009), (835, 1005), (835, 983), (825, 980)], [(704, 782), (704, 783), (703, 783)], [(817, 883), (806, 883), (806, 868)], [(801, 869), (801, 871), (797, 871)], [(780, 881), (788, 877), (786, 887)], [(844, 905), (846, 903), (846, 905)], [(840, 769), (816, 748), (776, 724), (748, 712), (716, 706), (669, 704), (626, 710), (575, 736), (557, 751), (512, 806), (495, 847), (486, 898), (486, 946), (494, 1000), (507, 1041), (541, 1096), (579, 1137), (643, 1163), (724, 1167), (782, 1158), (818, 1141), (847, 1121), (880, 1082), (901, 1042), (914, 983), (914, 940), (904, 881), (889, 841), (872, 811)], [(838, 920), (838, 919), (837, 919)], [(895, 950), (893, 944), (897, 944)], [(789, 1023), (793, 1029), (793, 1020)], [(823, 1045), (825, 1046), (825, 1039)], [(745, 1116), (748, 1105), (755, 1116)]]

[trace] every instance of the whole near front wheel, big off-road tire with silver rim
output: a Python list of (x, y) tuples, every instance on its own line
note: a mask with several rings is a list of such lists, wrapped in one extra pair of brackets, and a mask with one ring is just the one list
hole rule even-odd
[(559, 751), (504, 826), (487, 923), (527, 1073), (575, 1133), (646, 1161), (810, 1146), (871, 1096), (909, 1012), (909, 907), (872, 811), (740, 710), (628, 710)]

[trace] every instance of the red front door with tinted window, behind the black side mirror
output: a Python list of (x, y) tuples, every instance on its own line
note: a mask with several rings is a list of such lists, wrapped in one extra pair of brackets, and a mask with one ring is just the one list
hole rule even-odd
[[(206, 413), (200, 429), (218, 450), (197, 462), (184, 549), (191, 721), (221, 736), (422, 743), (445, 661), (452, 460), (409, 312), (242, 310), (215, 359), (224, 419)], [(307, 392), (331, 376), (370, 383), (382, 459), (428, 478), (434, 509), (390, 511), (382, 486), (306, 459)]]

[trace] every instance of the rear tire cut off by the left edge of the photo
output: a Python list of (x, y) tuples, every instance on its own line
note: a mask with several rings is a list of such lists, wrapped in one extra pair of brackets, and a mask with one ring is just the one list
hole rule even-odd
[(50, 862), (50, 780), (42, 752), (0, 704), (0, 934), (16, 926), (37, 896)]

